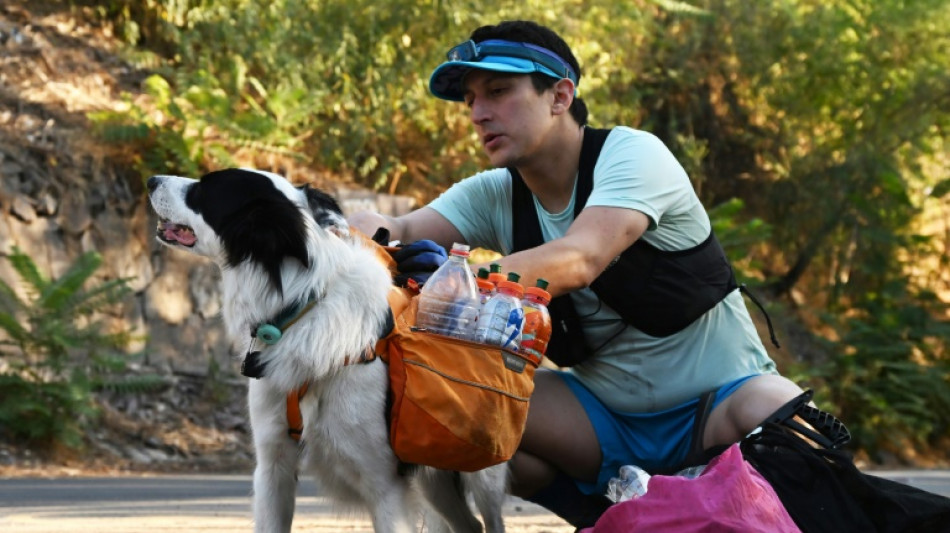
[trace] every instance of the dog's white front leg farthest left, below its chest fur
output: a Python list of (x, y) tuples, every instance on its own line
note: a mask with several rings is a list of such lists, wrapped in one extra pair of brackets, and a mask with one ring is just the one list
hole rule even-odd
[(287, 396), (266, 380), (251, 380), (248, 406), (254, 434), (254, 531), (287, 533), (297, 493), (297, 443), (287, 435)]

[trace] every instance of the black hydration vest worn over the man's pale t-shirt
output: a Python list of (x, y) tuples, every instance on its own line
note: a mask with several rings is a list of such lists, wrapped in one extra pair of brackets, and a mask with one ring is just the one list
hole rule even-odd
[[(584, 128), (575, 219), (593, 190), (594, 165), (609, 133), (610, 130)], [(514, 253), (543, 244), (544, 237), (531, 191), (515, 168), (509, 167), (508, 171)], [(688, 250), (664, 251), (638, 239), (590, 285), (626, 324), (653, 337), (681, 331), (738, 287), (732, 266), (712, 232)], [(548, 309), (552, 332), (545, 355), (558, 366), (573, 366), (593, 355), (570, 295), (554, 298)]]

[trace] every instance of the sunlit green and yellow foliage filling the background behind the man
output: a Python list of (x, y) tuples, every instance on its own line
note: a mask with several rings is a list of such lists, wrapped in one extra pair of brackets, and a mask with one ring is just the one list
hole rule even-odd
[(155, 73), (95, 117), (143, 174), (277, 157), (423, 201), (484, 164), (431, 69), (481, 24), (549, 25), (592, 124), (660, 136), (740, 273), (828, 341), (795, 372), (858, 445), (946, 430), (950, 0), (87, 3)]

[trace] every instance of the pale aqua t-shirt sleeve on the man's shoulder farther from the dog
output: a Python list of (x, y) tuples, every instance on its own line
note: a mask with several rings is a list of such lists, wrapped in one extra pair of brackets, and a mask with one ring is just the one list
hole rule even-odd
[(686, 171), (660, 139), (620, 126), (601, 150), (587, 206), (636, 209), (655, 230), (667, 213), (693, 207), (694, 196)]

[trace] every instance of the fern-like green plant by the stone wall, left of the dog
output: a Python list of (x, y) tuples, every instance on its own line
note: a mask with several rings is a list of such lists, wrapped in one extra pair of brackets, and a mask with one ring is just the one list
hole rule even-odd
[(6, 257), (26, 296), (0, 281), (0, 434), (38, 445), (82, 445), (95, 420), (92, 392), (143, 390), (154, 378), (122, 378), (128, 358), (119, 349), (131, 332), (107, 331), (99, 314), (129, 294), (128, 280), (84, 288), (102, 258), (79, 257), (58, 279), (48, 279), (28, 256)]

